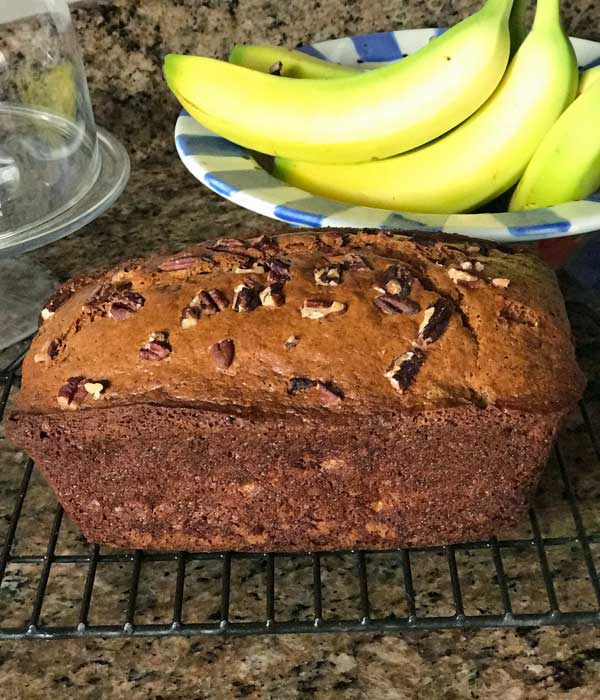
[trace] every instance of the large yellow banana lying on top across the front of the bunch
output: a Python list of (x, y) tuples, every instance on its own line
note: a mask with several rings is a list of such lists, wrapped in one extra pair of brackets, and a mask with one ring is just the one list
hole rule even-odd
[(464, 121), (502, 78), (513, 0), (487, 0), (420, 51), (331, 80), (266, 75), (168, 55), (169, 87), (201, 124), (247, 148), (321, 163), (407, 151)]

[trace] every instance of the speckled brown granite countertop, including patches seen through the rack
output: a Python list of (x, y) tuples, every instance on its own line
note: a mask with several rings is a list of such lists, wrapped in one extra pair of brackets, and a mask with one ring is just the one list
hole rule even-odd
[[(97, 120), (126, 143), (133, 171), (126, 193), (97, 222), (32, 254), (60, 278), (104, 267), (120, 259), (176, 250), (206, 237), (232, 234), (243, 226), (263, 230), (265, 219), (239, 209), (202, 188), (179, 163), (172, 145), (178, 106), (160, 73), (167, 51), (223, 56), (236, 41), (293, 46), (309, 40), (390, 28), (447, 25), (478, 3), (432, 0), (119, 0), (79, 7), (75, 21), (84, 48)], [(600, 39), (600, 5), (563, 2), (572, 34)], [(580, 358), (598, 396), (600, 333), (587, 309), (600, 310), (595, 297), (566, 286)], [(581, 307), (582, 300), (588, 304)], [(4, 357), (0, 357), (3, 366)], [(600, 428), (600, 406), (592, 405)], [(563, 436), (581, 499), (584, 524), (600, 532), (600, 465), (585, 437), (581, 416)], [(23, 470), (0, 428), (0, 535), (3, 534)], [(574, 523), (556, 464), (540, 488), (540, 526), (546, 536), (574, 534)], [(34, 475), (16, 534), (14, 552), (39, 553), (47, 544), (54, 501)], [(529, 537), (526, 523), (514, 537)], [(580, 548), (550, 548), (549, 565), (564, 609), (585, 610), (594, 598)], [(593, 545), (596, 565), (600, 549)], [(57, 552), (83, 553), (86, 544), (65, 521)], [(417, 607), (444, 615), (452, 610), (443, 557), (417, 555), (413, 561)], [(458, 556), (467, 613), (498, 612), (494, 570), (487, 552)], [(397, 564), (368, 560), (374, 615), (406, 614)], [(517, 612), (544, 610), (547, 600), (533, 551), (505, 557), (509, 590)], [(326, 611), (357, 615), (352, 562), (324, 562)], [(29, 615), (39, 570), (9, 565), (0, 587), (0, 624), (21, 624)], [(122, 622), (130, 580), (128, 565), (101, 566), (92, 599), (92, 622)], [(311, 613), (309, 562), (297, 559), (278, 569), (276, 610), (286, 616)], [(262, 568), (234, 562), (232, 617), (248, 619), (265, 605)], [(73, 624), (85, 572), (53, 566), (42, 619)], [(188, 567), (184, 615), (210, 619), (218, 610), (219, 571), (215, 564)], [(143, 567), (137, 604), (140, 622), (168, 620), (174, 587), (170, 564)], [(238, 591), (237, 593), (235, 591)], [(243, 591), (243, 594), (242, 594)], [(247, 639), (118, 639), (68, 642), (1, 642), (0, 700), (190, 700), (343, 698), (362, 700), (595, 700), (600, 695), (598, 628), (534, 631), (431, 632), (395, 636), (372, 634), (287, 636)]]

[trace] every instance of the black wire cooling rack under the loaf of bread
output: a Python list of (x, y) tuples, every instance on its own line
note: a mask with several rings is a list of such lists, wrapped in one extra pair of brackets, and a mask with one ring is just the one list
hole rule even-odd
[[(0, 419), (22, 356), (0, 373)], [(90, 546), (0, 432), (0, 638), (250, 635), (600, 623), (600, 402), (561, 434), (502, 539), (386, 552)]]

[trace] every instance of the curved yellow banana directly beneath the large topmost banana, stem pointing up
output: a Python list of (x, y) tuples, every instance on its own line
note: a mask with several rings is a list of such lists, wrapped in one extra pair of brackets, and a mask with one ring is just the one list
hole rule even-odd
[(387, 160), (323, 165), (277, 158), (274, 173), (315, 194), (425, 213), (473, 210), (514, 185), (577, 89), (577, 63), (559, 0), (538, 0), (533, 28), (500, 86), (437, 141)]

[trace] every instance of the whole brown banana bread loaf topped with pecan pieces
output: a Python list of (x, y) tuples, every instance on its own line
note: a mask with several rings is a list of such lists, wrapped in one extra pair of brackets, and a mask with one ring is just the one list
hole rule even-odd
[(7, 429), (93, 542), (382, 549), (513, 525), (582, 389), (536, 258), (306, 231), (63, 286)]

